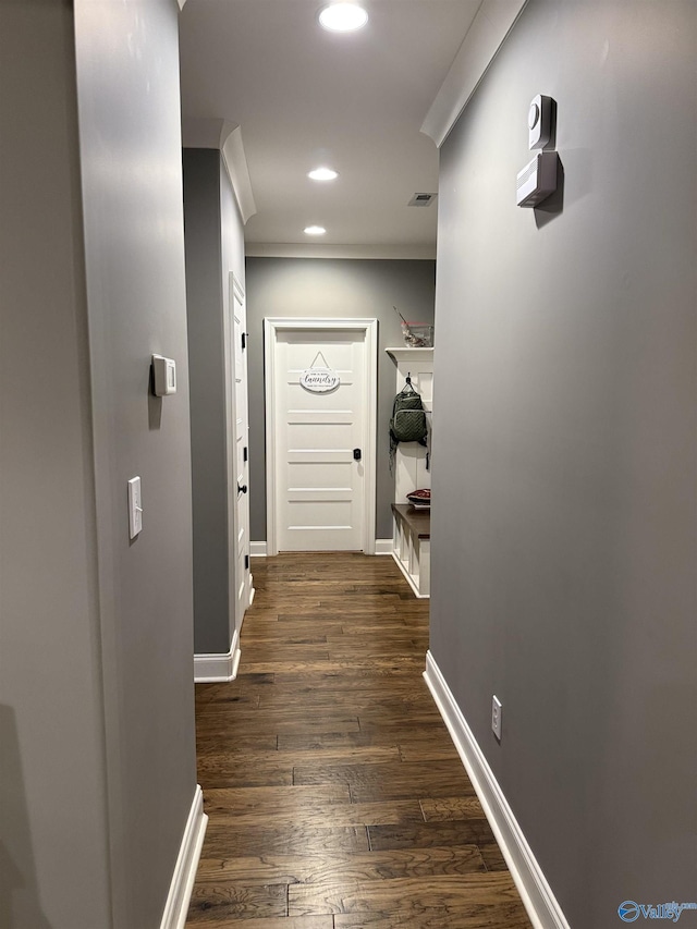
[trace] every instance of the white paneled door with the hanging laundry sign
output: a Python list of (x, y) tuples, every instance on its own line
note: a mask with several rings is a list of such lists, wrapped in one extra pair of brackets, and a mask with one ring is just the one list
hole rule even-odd
[[(341, 328), (331, 320), (305, 327), (278, 321), (273, 328), (267, 505), (276, 551), (375, 548), (375, 341), (366, 322)], [(327, 389), (318, 379), (335, 384)]]

